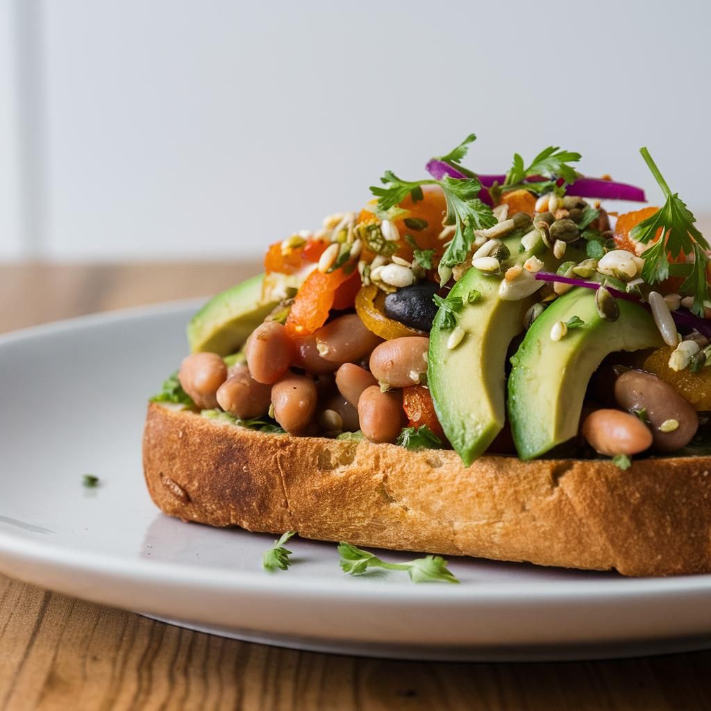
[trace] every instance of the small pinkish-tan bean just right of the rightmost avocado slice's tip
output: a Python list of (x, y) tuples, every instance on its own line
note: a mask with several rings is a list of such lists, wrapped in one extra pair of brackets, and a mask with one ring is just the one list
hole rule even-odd
[(582, 434), (600, 454), (639, 454), (652, 444), (652, 433), (636, 415), (621, 410), (595, 410), (582, 423)]

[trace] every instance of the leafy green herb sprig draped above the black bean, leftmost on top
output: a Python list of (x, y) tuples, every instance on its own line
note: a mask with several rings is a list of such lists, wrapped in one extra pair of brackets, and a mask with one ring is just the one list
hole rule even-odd
[[(449, 151), (443, 159), (456, 165), (460, 170), (459, 161), (466, 155), (469, 144), (474, 141), (474, 134), (468, 136), (464, 141)], [(384, 187), (371, 186), (370, 192), (378, 198), (378, 209), (389, 210), (402, 203), (407, 196), (413, 202), (423, 199), (422, 186), (438, 185), (444, 192), (447, 201), (447, 216), (444, 218), (445, 225), (455, 225), (454, 237), (447, 245), (447, 249), (439, 261), (439, 279), (444, 283), (451, 276), (451, 267), (461, 264), (466, 259), (471, 243), (474, 242), (474, 230), (486, 230), (486, 228), (496, 225), (491, 208), (483, 203), (479, 198), (481, 182), (471, 171), (466, 171), (467, 178), (451, 178), (443, 176), (442, 180), (427, 178), (419, 181), (405, 181), (399, 178), (392, 171), (385, 171), (380, 178)]]

